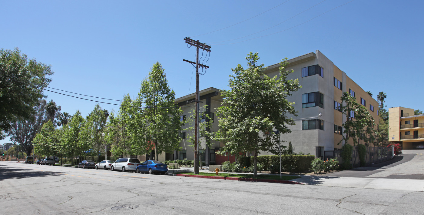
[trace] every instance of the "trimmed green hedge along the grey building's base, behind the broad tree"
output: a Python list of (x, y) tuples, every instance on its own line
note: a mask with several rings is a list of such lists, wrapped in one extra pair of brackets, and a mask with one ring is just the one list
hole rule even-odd
[[(282, 155), (281, 166), (283, 172), (299, 173), (310, 170), (311, 162), (315, 159), (313, 155)], [(242, 156), (239, 159), (239, 163), (244, 167), (248, 167), (246, 164), (254, 164), (253, 156)], [(263, 164), (264, 171), (270, 171), (271, 173), (279, 173), (280, 169), (280, 158), (278, 155), (265, 155), (257, 156), (257, 162)]]

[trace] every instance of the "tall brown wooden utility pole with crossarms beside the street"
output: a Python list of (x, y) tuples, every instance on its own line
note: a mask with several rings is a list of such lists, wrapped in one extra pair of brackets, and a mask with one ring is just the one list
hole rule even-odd
[(209, 66), (199, 64), (199, 48), (201, 48), (204, 51), (211, 51), (210, 45), (206, 45), (204, 43), (199, 42), (199, 40), (195, 41), (190, 39), (190, 37), (184, 38), (187, 44), (190, 46), (196, 47), (196, 62), (192, 62), (190, 60), (183, 59), (185, 62), (189, 62), (191, 64), (196, 65), (196, 98), (195, 98), (195, 120), (194, 120), (194, 127), (195, 127), (195, 134), (194, 134), (194, 174), (199, 174), (199, 155), (198, 155), (198, 139), (199, 139), (199, 66), (204, 68), (209, 68)]

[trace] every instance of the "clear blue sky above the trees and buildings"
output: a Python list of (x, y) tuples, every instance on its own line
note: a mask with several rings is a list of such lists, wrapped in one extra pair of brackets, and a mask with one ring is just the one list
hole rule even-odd
[[(182, 59), (195, 61), (195, 48), (187, 48), (184, 37), (212, 45), (201, 89), (227, 89), (231, 68), (245, 66), (249, 52), (258, 52), (267, 66), (318, 49), (374, 98), (384, 91), (387, 107), (424, 110), (419, 95), (424, 80), (423, 1), (284, 2), (0, 0), (0, 48), (17, 47), (52, 65), (49, 87), (109, 99), (137, 96), (156, 61), (165, 68), (176, 97), (194, 93), (193, 66)], [(200, 34), (205, 35), (196, 37)], [(245, 37), (249, 34), (254, 35)], [(244, 38), (233, 40), (239, 37)], [(71, 115), (80, 110), (86, 116), (97, 104), (45, 95)]]

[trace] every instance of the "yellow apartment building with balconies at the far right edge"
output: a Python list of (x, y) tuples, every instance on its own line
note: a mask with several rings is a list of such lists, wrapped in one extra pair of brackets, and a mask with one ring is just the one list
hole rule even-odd
[(424, 114), (414, 115), (412, 108), (389, 108), (389, 142), (403, 149), (424, 148)]

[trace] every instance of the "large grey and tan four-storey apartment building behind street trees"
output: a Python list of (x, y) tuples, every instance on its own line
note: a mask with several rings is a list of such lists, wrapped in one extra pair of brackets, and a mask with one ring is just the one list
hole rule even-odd
[[(285, 141), (284, 145), (288, 145), (290, 141), (296, 153), (310, 153), (317, 157), (322, 157), (324, 151), (340, 149), (344, 144), (340, 142), (343, 135), (342, 124), (346, 122), (345, 114), (340, 112), (340, 97), (343, 92), (349, 92), (358, 103), (364, 105), (371, 113), (375, 123), (378, 124), (378, 102), (320, 51), (289, 59), (288, 62), (289, 65), (286, 69), (294, 71), (288, 76), (288, 79), (298, 79), (302, 88), (287, 98), (290, 102), (295, 102), (294, 107), (298, 111), (298, 116), (289, 116), (295, 119), (296, 124), (290, 126), (291, 133), (281, 135), (281, 140)], [(265, 74), (278, 76), (279, 67), (279, 63), (268, 66)], [(194, 100), (195, 93), (175, 100), (184, 111), (181, 120), (189, 116), (190, 111), (194, 108)], [(209, 114), (213, 119), (212, 130), (218, 130), (218, 119), (214, 112), (223, 101), (218, 89), (207, 88), (200, 91), (200, 100), (202, 101), (200, 112)], [(181, 131), (183, 140), (180, 146), (183, 150), (176, 152), (174, 157), (194, 159), (192, 143), (185, 138), (190, 134), (190, 131)], [(206, 147), (205, 138), (201, 137), (199, 142), (201, 159), (206, 164), (220, 164), (223, 161), (234, 159), (231, 155), (218, 156), (215, 154), (223, 146), (223, 143), (211, 141), (212, 147), (209, 148)], [(260, 152), (260, 155), (270, 154), (270, 152)]]

